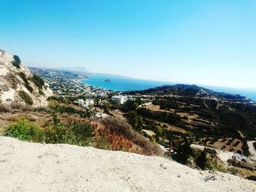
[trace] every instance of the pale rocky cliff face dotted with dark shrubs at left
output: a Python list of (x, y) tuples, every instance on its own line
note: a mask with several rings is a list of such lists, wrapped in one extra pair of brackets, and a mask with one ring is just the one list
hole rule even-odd
[(45, 107), (52, 95), (48, 84), (32, 74), (17, 55), (0, 50), (0, 104)]

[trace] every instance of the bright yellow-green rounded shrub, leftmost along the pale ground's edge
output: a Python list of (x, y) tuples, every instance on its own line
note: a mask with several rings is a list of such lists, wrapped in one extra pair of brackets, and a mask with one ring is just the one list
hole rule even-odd
[(4, 129), (4, 136), (33, 142), (42, 142), (44, 140), (42, 129), (26, 119), (18, 120), (17, 123), (13, 123)]

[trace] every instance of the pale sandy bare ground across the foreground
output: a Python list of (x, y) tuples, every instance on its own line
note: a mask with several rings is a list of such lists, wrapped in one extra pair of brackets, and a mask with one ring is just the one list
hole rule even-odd
[(160, 157), (0, 137), (0, 191), (256, 191)]

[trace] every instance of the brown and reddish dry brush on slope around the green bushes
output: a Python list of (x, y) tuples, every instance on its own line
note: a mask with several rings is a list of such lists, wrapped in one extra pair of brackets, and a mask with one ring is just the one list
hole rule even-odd
[[(53, 104), (53, 102), (51, 102)], [(59, 103), (56, 103), (59, 104)], [(81, 107), (74, 107), (81, 110)], [(128, 123), (118, 118), (105, 118), (102, 122), (81, 118), (79, 114), (67, 114), (54, 112), (48, 107), (32, 109), (25, 104), (0, 104), (0, 133), (3, 129), (20, 119), (27, 119), (35, 125), (48, 129), (54, 126), (53, 115), (59, 123), (68, 125), (69, 123), (91, 124), (94, 129), (94, 142), (91, 146), (105, 150), (123, 150), (143, 155), (162, 155), (160, 147), (150, 142), (148, 139), (134, 131)]]

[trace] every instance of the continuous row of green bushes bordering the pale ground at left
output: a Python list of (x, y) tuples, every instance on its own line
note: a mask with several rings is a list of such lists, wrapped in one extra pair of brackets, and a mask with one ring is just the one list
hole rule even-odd
[(94, 137), (94, 129), (90, 123), (68, 122), (59, 123), (53, 118), (53, 125), (45, 129), (21, 119), (4, 129), (4, 136), (20, 140), (46, 143), (66, 143), (87, 146)]

